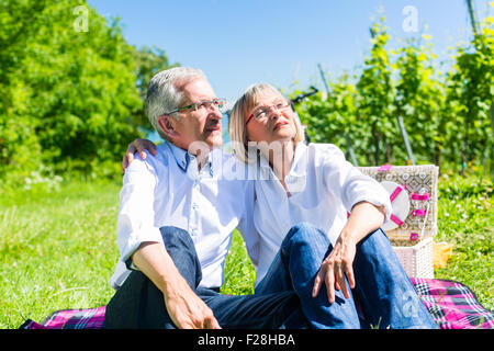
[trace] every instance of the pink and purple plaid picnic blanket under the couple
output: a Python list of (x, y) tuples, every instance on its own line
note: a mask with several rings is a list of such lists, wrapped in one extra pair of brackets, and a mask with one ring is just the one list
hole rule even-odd
[[(494, 329), (494, 313), (485, 309), (468, 286), (437, 279), (411, 281), (441, 329)], [(105, 309), (106, 306), (57, 310), (41, 324), (27, 319), (20, 329), (101, 329)]]

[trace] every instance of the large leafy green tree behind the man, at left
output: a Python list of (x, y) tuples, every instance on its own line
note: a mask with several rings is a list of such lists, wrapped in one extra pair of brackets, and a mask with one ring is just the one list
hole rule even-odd
[(0, 179), (22, 182), (42, 165), (119, 176), (165, 52), (127, 44), (117, 20), (81, 0), (1, 1), (0, 27)]

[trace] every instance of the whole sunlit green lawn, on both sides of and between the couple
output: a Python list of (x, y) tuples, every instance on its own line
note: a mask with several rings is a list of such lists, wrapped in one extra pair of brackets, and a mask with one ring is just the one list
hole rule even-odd
[[(441, 176), (439, 235), (454, 244), (453, 256), (436, 276), (470, 286), (494, 307), (492, 182), (478, 177)], [(60, 183), (48, 190), (3, 190), (0, 194), (0, 328), (41, 321), (63, 308), (108, 303), (108, 280), (119, 252), (115, 218), (120, 182)], [(238, 233), (234, 233), (222, 292), (252, 292), (255, 273)]]

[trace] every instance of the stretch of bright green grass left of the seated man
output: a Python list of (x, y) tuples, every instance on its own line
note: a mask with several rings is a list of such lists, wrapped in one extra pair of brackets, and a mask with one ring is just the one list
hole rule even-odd
[(0, 328), (108, 303), (119, 185), (70, 183), (0, 201)]

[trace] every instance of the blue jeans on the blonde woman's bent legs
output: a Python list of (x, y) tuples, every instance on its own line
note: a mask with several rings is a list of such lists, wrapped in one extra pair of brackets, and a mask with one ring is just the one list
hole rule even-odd
[[(294, 291), (310, 328), (437, 328), (382, 229), (357, 245), (356, 287), (350, 298), (336, 291), (336, 301), (329, 304), (324, 284), (313, 298), (315, 276), (332, 249), (327, 236), (313, 225), (293, 227), (268, 273), (256, 286), (256, 294)], [(359, 318), (353, 297), (363, 319)]]

